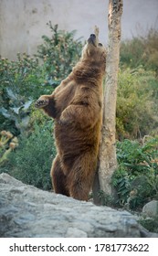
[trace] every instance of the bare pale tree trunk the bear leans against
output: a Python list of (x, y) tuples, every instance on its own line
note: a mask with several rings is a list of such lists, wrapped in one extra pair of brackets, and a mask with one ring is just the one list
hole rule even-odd
[[(100, 190), (110, 196), (114, 196), (114, 189), (111, 186), (111, 176), (117, 167), (115, 120), (121, 42), (121, 14), (122, 0), (110, 0), (108, 16), (109, 46), (106, 60), (106, 85), (103, 99), (103, 124), (98, 173)], [(95, 186), (96, 183), (97, 178), (95, 179)]]

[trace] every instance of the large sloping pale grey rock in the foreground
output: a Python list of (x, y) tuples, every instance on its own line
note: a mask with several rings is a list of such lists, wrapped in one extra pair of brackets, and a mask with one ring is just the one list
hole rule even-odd
[[(0, 175), (0, 237), (141, 237), (127, 211), (27, 186)], [(145, 235), (146, 236), (146, 235)]]

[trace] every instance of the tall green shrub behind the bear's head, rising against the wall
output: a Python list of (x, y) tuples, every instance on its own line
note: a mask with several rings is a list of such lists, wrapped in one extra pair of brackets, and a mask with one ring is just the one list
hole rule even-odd
[(46, 83), (56, 87), (79, 60), (83, 46), (79, 39), (74, 39), (75, 31), (58, 30), (58, 25), (53, 27), (51, 22), (47, 26), (51, 37), (42, 37), (44, 42), (38, 46), (37, 57), (43, 60)]

